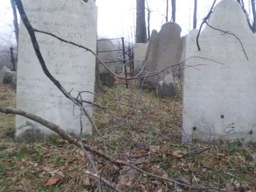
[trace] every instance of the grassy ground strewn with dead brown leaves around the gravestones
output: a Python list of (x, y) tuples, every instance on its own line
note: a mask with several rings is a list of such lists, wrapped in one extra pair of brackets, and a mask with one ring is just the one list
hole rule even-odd
[[(197, 191), (256, 191), (254, 146), (242, 141), (181, 144), (181, 93), (175, 99), (157, 99), (152, 92), (121, 85), (98, 91), (95, 100), (108, 104), (108, 110), (95, 107), (102, 136), (94, 131), (83, 138), (85, 144), (161, 177), (212, 188)], [(15, 107), (15, 91), (8, 85), (0, 84), (0, 106)], [(14, 115), (0, 113), (0, 191), (97, 191), (86, 174), (89, 162), (77, 147), (56, 138), (15, 142), (14, 127)], [(102, 177), (123, 191), (189, 191), (103, 158), (94, 160)]]

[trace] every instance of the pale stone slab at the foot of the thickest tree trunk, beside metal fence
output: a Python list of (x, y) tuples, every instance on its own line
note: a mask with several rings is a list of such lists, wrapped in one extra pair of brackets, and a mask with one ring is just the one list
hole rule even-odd
[(135, 72), (140, 72), (145, 62), (148, 43), (135, 43), (133, 47)]

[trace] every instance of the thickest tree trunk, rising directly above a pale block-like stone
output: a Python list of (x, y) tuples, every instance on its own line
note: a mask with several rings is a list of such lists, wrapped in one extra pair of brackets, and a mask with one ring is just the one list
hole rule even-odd
[(145, 0), (137, 0), (136, 42), (147, 42)]

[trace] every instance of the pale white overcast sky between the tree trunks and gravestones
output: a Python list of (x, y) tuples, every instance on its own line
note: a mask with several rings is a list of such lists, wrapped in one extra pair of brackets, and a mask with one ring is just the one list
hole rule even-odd
[[(214, 0), (197, 0), (197, 25), (206, 16)], [(219, 0), (217, 0), (219, 2)], [(245, 1), (246, 2), (246, 1)], [(192, 29), (194, 0), (176, 1), (176, 23), (182, 28), (182, 35)], [(98, 34), (100, 37), (126, 37), (134, 39), (136, 0), (97, 0)], [(159, 29), (165, 23), (166, 0), (148, 0), (151, 9), (151, 30)], [(171, 15), (171, 7), (169, 10)], [(10, 0), (0, 0), (0, 40), (10, 43), (12, 33), (12, 9)], [(13, 41), (12, 41), (13, 42)]]

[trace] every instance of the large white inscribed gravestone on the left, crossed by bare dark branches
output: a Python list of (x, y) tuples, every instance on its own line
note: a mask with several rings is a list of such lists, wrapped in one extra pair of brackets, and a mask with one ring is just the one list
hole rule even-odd
[[(97, 7), (93, 0), (24, 0), (31, 25), (96, 51)], [(48, 69), (72, 96), (94, 101), (95, 58), (86, 50), (45, 34), (36, 34)], [(42, 72), (31, 40), (20, 23), (18, 51), (17, 107), (52, 121), (69, 134), (91, 134), (91, 124)], [(93, 109), (86, 106), (89, 115)], [(82, 127), (80, 126), (82, 123)], [(44, 139), (53, 134), (48, 128), (26, 118), (16, 117), (18, 139)]]

